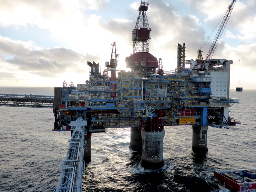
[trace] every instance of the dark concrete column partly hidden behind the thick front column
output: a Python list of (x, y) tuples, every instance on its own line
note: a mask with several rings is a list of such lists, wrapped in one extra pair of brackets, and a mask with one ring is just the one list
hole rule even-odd
[(142, 137), (140, 133), (139, 127), (131, 127), (130, 128), (130, 149), (134, 151), (142, 150)]

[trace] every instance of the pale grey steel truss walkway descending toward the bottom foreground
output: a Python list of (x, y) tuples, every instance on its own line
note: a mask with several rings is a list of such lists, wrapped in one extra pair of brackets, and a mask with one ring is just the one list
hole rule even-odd
[(71, 139), (68, 140), (69, 148), (64, 161), (60, 162), (59, 168), (62, 170), (55, 192), (81, 192), (82, 175), (84, 174), (84, 135), (87, 121), (79, 117), (76, 121), (71, 121), (73, 130)]

